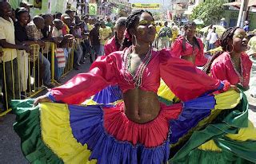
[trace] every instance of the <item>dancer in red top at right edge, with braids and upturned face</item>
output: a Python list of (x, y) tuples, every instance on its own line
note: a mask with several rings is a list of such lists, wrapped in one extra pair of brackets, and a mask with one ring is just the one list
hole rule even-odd
[(220, 41), (223, 52), (214, 55), (207, 64), (206, 73), (214, 79), (228, 80), (230, 84), (247, 90), (252, 62), (245, 53), (248, 46), (246, 31), (238, 27), (226, 29)]

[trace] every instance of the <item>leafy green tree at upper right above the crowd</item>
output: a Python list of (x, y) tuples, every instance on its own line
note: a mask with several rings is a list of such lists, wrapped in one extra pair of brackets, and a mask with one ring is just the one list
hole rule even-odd
[(224, 15), (226, 0), (206, 0), (192, 10), (190, 19), (202, 19), (205, 25), (216, 24)]

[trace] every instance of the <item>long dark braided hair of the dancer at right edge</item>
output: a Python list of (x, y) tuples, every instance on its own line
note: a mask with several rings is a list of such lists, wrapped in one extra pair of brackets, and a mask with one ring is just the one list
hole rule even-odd
[(215, 53), (214, 56), (208, 61), (208, 63), (204, 66), (203, 71), (207, 74), (210, 73), (210, 65), (214, 62), (214, 60), (220, 56), (223, 52), (230, 51), (228, 46), (228, 41), (231, 39), (233, 40), (235, 30), (239, 29), (240, 27), (230, 27), (226, 29), (226, 31), (222, 34), (220, 38), (220, 45), (222, 46), (222, 52)]

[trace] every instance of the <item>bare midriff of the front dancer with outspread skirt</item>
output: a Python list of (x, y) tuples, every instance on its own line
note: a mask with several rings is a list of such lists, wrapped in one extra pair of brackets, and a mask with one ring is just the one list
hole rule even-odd
[(125, 114), (134, 123), (148, 123), (160, 111), (158, 96), (154, 92), (135, 88), (123, 94)]

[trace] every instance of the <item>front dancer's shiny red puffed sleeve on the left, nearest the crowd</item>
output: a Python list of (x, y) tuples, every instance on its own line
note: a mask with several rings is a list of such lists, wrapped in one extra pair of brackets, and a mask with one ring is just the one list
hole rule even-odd
[(116, 83), (114, 57), (98, 57), (90, 71), (74, 76), (66, 84), (51, 89), (46, 94), (55, 102), (79, 104), (110, 84)]

